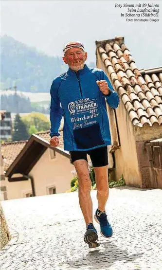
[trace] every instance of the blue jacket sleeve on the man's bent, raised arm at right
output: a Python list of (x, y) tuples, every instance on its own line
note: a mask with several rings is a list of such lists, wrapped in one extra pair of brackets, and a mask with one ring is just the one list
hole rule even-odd
[(102, 95), (106, 97), (107, 103), (111, 108), (117, 108), (119, 105), (119, 96), (117, 92), (113, 90), (113, 87), (108, 79), (108, 76), (104, 71), (102, 71), (101, 80), (106, 80), (108, 82), (108, 88), (111, 90), (111, 92), (108, 93), (108, 95), (104, 95), (103, 93)]

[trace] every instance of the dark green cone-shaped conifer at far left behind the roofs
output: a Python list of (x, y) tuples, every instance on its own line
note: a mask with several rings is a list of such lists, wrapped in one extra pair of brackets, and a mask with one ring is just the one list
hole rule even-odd
[(29, 134), (27, 131), (27, 126), (21, 120), (19, 114), (16, 114), (14, 119), (14, 130), (12, 133), (12, 141), (21, 141), (21, 140), (28, 140)]

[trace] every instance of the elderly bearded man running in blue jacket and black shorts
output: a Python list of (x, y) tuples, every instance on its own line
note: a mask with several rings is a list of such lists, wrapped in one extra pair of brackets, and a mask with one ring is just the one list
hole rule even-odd
[(84, 241), (89, 248), (99, 246), (93, 225), (91, 180), (87, 154), (95, 172), (98, 208), (94, 219), (100, 224), (104, 237), (112, 236), (112, 227), (105, 212), (108, 200), (108, 149), (111, 144), (106, 101), (112, 108), (119, 105), (119, 96), (113, 90), (105, 72), (85, 65), (87, 53), (83, 44), (72, 41), (66, 44), (64, 62), (69, 69), (54, 78), (51, 86), (51, 146), (59, 144), (60, 122), (64, 117), (64, 150), (68, 150), (79, 182), (79, 204), (85, 222)]

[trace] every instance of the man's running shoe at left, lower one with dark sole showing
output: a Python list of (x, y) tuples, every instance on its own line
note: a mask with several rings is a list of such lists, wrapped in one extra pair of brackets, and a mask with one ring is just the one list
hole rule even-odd
[(98, 239), (97, 231), (93, 226), (93, 223), (87, 224), (87, 231), (84, 235), (85, 243), (89, 244), (89, 248), (97, 248), (99, 247), (99, 243), (96, 242)]

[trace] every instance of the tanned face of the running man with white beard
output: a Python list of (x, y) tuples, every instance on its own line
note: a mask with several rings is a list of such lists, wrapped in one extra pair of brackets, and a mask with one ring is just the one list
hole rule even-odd
[(87, 60), (87, 53), (80, 48), (71, 48), (62, 58), (72, 71), (78, 71), (83, 69), (84, 63)]

